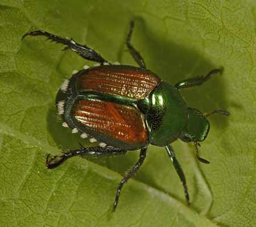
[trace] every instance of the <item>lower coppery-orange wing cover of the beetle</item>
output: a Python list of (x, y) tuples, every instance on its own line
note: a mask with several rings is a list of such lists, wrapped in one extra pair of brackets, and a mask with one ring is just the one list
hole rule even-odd
[(98, 141), (130, 149), (148, 143), (142, 113), (134, 107), (102, 100), (77, 100), (73, 105), (73, 121)]

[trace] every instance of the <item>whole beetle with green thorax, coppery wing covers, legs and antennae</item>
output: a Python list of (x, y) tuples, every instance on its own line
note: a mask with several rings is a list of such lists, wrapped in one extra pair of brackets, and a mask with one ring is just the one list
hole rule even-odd
[(141, 150), (138, 161), (125, 174), (115, 195), (113, 211), (118, 204), (123, 184), (134, 176), (146, 158), (147, 147), (152, 144), (165, 147), (183, 183), (185, 199), (189, 194), (185, 175), (177, 161), (171, 143), (177, 139), (193, 142), (196, 157), (209, 163), (199, 155), (199, 142), (207, 138), (210, 124), (207, 119), (213, 113), (229, 115), (228, 111), (214, 110), (203, 115), (195, 108), (187, 107), (180, 89), (200, 86), (221, 69), (213, 69), (205, 76), (185, 79), (172, 86), (146, 68), (141, 54), (131, 45), (134, 22), (130, 23), (126, 45), (139, 65), (114, 65), (86, 45), (76, 43), (52, 33), (37, 30), (26, 36), (46, 36), (49, 40), (64, 44), (66, 49), (79, 54), (98, 65), (85, 66), (64, 81), (56, 95), (56, 107), (63, 119), (63, 127), (72, 133), (89, 137), (90, 142), (99, 141), (98, 146), (63, 151), (61, 155), (47, 155), (46, 167), (55, 168), (76, 155), (121, 155), (129, 150)]

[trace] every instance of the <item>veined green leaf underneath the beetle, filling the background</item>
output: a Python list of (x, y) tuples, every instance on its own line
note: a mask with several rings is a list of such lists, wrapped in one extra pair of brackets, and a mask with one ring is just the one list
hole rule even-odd
[[(246, 1), (0, 2), (0, 226), (256, 226), (255, 61), (256, 3)], [(45, 167), (48, 153), (74, 149), (79, 136), (61, 127), (55, 95), (65, 78), (92, 65), (43, 37), (42, 29), (73, 37), (109, 61), (135, 65), (132, 43), (148, 69), (175, 84), (223, 66), (201, 87), (182, 91), (189, 107), (224, 109), (210, 117), (198, 163), (192, 145), (174, 143), (191, 195), (163, 148), (150, 146), (142, 170), (115, 191), (138, 152), (123, 157), (68, 160)], [(85, 144), (88, 141), (83, 141)]]

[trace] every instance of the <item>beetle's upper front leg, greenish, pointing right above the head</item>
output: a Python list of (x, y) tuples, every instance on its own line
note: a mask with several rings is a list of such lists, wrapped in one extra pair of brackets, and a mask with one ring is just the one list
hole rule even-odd
[(223, 71), (223, 69), (210, 70), (210, 72), (205, 76), (192, 77), (192, 78), (189, 78), (189, 79), (185, 79), (184, 81), (180, 81), (179, 83), (176, 83), (175, 87), (177, 89), (185, 89), (187, 87), (200, 86), (205, 81), (208, 81), (208, 79), (210, 79), (210, 77), (213, 74), (222, 73), (222, 71)]

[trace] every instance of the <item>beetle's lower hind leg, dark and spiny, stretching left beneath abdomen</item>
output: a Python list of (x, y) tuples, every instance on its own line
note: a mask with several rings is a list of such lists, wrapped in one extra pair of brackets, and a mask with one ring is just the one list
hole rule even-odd
[(121, 155), (125, 154), (127, 150), (113, 148), (113, 146), (93, 146), (93, 147), (85, 147), (80, 144), (80, 149), (77, 150), (68, 150), (67, 152), (63, 152), (61, 155), (55, 155), (51, 157), (50, 154), (47, 155), (46, 158), (46, 167), (48, 169), (53, 169), (59, 166), (61, 163), (66, 161), (68, 158), (74, 157), (76, 155)]

